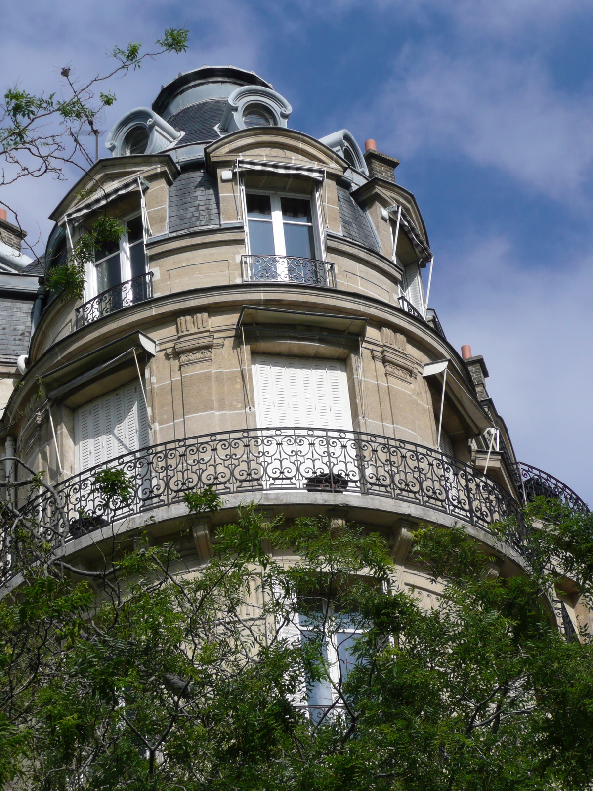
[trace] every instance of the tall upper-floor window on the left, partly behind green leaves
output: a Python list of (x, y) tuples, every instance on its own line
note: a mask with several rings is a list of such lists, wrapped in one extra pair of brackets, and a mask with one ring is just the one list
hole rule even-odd
[[(123, 222), (123, 237), (119, 242), (108, 242), (95, 250), (96, 294), (104, 293), (135, 278), (146, 274), (146, 255), (142, 217), (130, 218)], [(139, 301), (145, 298), (145, 280), (136, 283), (134, 295)], [(119, 292), (118, 292), (119, 293)], [(89, 298), (94, 295), (89, 295)], [(122, 292), (123, 296), (123, 292)], [(117, 294), (115, 294), (117, 298)], [(114, 309), (115, 306), (111, 306)]]

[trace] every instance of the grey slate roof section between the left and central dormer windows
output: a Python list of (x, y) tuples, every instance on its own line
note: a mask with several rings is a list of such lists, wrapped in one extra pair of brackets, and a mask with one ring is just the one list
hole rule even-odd
[(169, 190), (169, 233), (220, 225), (215, 180), (204, 169), (181, 173)]

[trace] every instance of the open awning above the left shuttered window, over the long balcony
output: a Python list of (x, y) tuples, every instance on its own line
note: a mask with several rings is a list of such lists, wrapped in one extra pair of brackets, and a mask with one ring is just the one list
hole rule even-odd
[[(115, 377), (116, 372), (130, 369), (135, 375), (134, 352), (138, 355), (145, 353), (149, 357), (154, 357), (157, 354), (157, 343), (141, 331), (130, 332), (123, 338), (100, 346), (64, 365), (59, 365), (43, 377), (43, 384), (47, 387), (47, 398), (72, 406), (73, 398), (84, 403), (89, 395), (87, 391), (97, 380), (101, 380), (106, 388), (111, 389), (113, 384), (111, 379)], [(138, 357), (138, 359), (142, 358)]]

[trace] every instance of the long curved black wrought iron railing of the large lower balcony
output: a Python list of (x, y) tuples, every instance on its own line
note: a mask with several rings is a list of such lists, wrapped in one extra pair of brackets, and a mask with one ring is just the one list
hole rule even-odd
[[(130, 477), (129, 501), (104, 505), (95, 477), (105, 467), (118, 467)], [(519, 504), (497, 483), (434, 448), (352, 431), (247, 429), (153, 445), (56, 484), (70, 520), (70, 535), (60, 540), (180, 503), (185, 492), (206, 486), (222, 496), (255, 499), (265, 491), (368, 494), (423, 505), (486, 529), (519, 516)], [(46, 493), (34, 507), (47, 524), (57, 517)], [(521, 545), (519, 534), (515, 544)]]

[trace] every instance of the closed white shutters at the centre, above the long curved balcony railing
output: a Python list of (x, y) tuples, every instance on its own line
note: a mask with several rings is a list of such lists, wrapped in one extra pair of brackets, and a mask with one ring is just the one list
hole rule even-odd
[(342, 361), (253, 356), (255, 411), (260, 428), (352, 430)]

